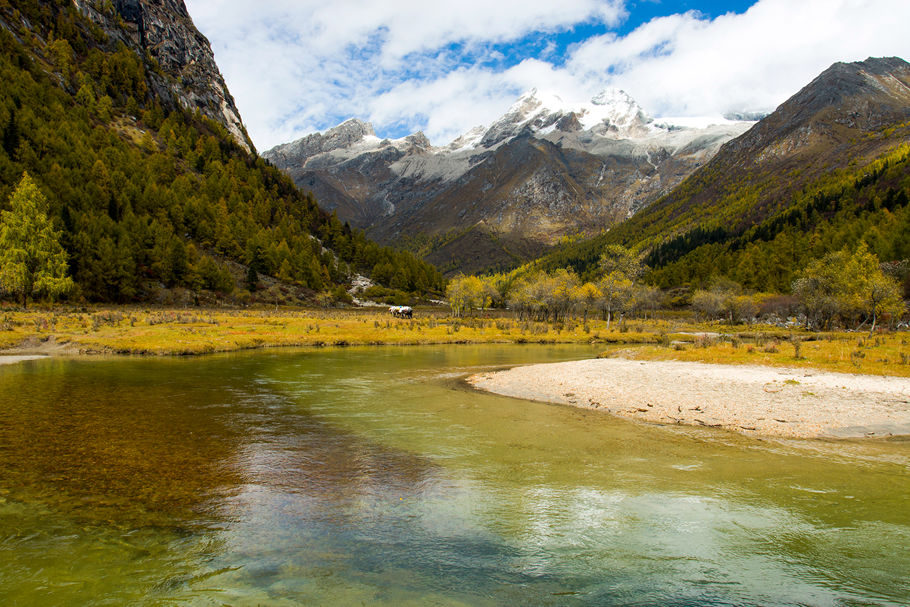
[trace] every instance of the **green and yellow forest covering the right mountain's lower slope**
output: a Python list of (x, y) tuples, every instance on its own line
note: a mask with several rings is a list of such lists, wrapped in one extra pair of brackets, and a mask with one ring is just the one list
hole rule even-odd
[[(674, 200), (695, 196), (706, 183), (704, 175), (697, 177), (684, 182)], [(536, 266), (571, 268), (588, 280), (603, 248), (620, 244), (641, 252), (649, 267), (645, 279), (664, 290), (705, 289), (724, 276), (750, 291), (789, 293), (803, 268), (845, 246), (854, 250), (864, 242), (883, 262), (910, 259), (910, 144), (895, 144), (875, 160), (828, 171), (798, 191), (765, 201), (771, 210), (752, 224), (730, 215), (761, 196), (748, 183), (731, 183), (723, 204), (707, 211), (658, 206), (608, 232), (557, 247)], [(904, 280), (907, 297), (910, 279)]]

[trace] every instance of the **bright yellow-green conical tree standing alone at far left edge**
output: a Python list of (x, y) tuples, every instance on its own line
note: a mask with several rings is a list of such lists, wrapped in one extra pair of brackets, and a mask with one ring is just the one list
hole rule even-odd
[(47, 217), (47, 199), (28, 173), (10, 196), (10, 207), (0, 213), (0, 286), (23, 306), (32, 295), (69, 291), (66, 251)]

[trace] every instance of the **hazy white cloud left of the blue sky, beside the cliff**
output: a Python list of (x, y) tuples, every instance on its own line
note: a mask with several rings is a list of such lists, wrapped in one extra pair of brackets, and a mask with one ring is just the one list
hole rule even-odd
[(375, 120), (365, 114), (383, 92), (415, 74), (432, 82), (463, 68), (450, 45), (482, 56), (492, 51), (491, 44), (531, 32), (590, 21), (614, 24), (623, 15), (620, 0), (187, 0), (187, 5), (212, 41), (261, 149), (328, 126), (327, 120)]

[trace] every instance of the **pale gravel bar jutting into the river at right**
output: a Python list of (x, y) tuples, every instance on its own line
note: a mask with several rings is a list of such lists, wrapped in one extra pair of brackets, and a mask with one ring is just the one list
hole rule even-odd
[(903, 377), (611, 358), (516, 367), (468, 382), (504, 396), (755, 436), (910, 435), (910, 379)]

